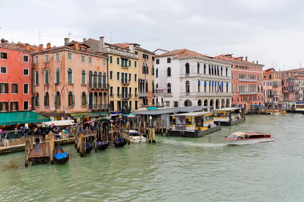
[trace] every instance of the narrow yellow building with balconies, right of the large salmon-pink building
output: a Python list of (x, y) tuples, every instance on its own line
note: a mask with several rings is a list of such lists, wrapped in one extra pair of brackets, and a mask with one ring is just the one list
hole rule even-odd
[[(85, 39), (84, 39), (85, 40)], [(129, 47), (122, 47), (104, 42), (88, 39), (86, 43), (90, 51), (104, 54), (108, 57), (109, 71), (109, 104), (112, 119), (119, 119), (122, 114), (137, 110), (138, 103), (138, 55)]]

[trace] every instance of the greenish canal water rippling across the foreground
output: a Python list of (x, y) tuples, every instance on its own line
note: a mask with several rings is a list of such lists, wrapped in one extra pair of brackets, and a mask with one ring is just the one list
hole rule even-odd
[[(93, 151), (73, 145), (66, 165), (24, 168), (24, 153), (0, 156), (0, 201), (304, 201), (304, 116), (250, 115), (201, 138), (156, 136), (156, 144)], [(229, 146), (236, 131), (275, 142)]]

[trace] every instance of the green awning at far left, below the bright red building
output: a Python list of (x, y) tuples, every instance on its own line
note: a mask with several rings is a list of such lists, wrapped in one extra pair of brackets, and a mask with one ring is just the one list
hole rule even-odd
[(46, 122), (46, 121), (51, 121), (51, 119), (31, 111), (0, 113), (0, 126), (22, 124), (22, 123)]

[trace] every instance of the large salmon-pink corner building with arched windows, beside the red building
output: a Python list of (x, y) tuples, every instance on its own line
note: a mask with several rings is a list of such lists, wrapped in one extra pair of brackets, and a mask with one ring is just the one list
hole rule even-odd
[(52, 120), (107, 117), (107, 57), (88, 51), (85, 42), (64, 43), (32, 53), (33, 110)]

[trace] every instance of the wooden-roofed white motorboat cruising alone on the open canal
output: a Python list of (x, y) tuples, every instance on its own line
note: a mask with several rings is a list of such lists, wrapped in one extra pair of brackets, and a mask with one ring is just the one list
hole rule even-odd
[(275, 137), (272, 137), (270, 134), (264, 134), (259, 132), (235, 132), (229, 135), (228, 137), (225, 136), (223, 140), (228, 145), (244, 145), (244, 144), (254, 144), (259, 142), (273, 142), (275, 141)]

